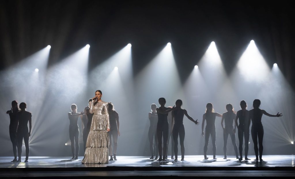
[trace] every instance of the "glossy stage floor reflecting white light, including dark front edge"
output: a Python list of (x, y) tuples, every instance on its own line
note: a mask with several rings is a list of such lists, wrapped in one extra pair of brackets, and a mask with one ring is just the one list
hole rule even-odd
[[(186, 155), (185, 161), (158, 162), (148, 157), (117, 156), (109, 164), (82, 164), (71, 157), (30, 157), (29, 162), (10, 162), (13, 157), (0, 157), (0, 177), (82, 177), (82, 176), (185, 176), (185, 177), (294, 177), (294, 155), (265, 155), (262, 162), (240, 162), (234, 156)], [(210, 158), (211, 157), (211, 158)], [(24, 161), (24, 159), (23, 159)]]

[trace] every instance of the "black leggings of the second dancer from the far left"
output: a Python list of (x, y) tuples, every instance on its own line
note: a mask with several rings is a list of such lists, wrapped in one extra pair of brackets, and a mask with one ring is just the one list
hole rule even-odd
[(17, 131), (17, 151), (19, 160), (22, 158), (22, 139), (24, 139), (24, 145), (26, 147), (26, 160), (29, 158), (29, 131), (28, 129), (20, 129)]

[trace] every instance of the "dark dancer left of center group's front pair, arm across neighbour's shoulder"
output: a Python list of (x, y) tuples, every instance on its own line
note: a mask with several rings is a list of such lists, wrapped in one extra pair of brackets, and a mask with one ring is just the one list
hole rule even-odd
[[(158, 114), (158, 123), (157, 123), (157, 137), (158, 137), (158, 150), (159, 150), (159, 160), (158, 161), (167, 161), (166, 152), (167, 152), (167, 141), (169, 133), (169, 123), (168, 123), (168, 113), (175, 110), (173, 108), (166, 108), (165, 98), (159, 98), (160, 107), (156, 109)], [(162, 136), (163, 136), (163, 153), (162, 153)], [(163, 154), (163, 158), (162, 158)]]

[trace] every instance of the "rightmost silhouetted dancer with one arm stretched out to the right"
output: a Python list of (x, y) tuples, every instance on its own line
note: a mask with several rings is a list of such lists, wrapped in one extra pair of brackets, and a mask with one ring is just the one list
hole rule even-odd
[[(255, 160), (258, 160), (258, 143), (259, 143), (259, 160), (262, 161), (262, 152), (263, 152), (263, 126), (261, 123), (261, 118), (262, 115), (265, 114), (266, 116), (270, 116), (270, 117), (281, 117), (283, 116), (282, 113), (281, 114), (276, 114), (276, 115), (272, 115), (272, 114), (268, 114), (266, 111), (264, 111), (263, 109), (259, 109), (260, 106), (260, 100), (259, 99), (255, 99), (253, 101), (253, 108), (249, 111), (249, 117), (252, 121), (252, 127), (251, 127), (251, 136), (252, 136), (252, 140), (253, 140), (253, 144), (254, 144), (254, 151), (255, 151)], [(258, 137), (258, 142), (257, 142), (257, 137)]]

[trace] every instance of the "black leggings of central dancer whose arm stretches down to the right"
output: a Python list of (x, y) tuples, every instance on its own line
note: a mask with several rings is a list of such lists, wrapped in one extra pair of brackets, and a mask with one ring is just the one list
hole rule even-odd
[(175, 159), (177, 159), (177, 153), (178, 153), (178, 134), (179, 134), (179, 141), (180, 141), (180, 150), (181, 150), (181, 159), (184, 158), (184, 136), (185, 136), (185, 131), (184, 131), (184, 126), (181, 124), (180, 126), (177, 126), (174, 124), (173, 130), (172, 130), (172, 136), (174, 139), (174, 154), (175, 154)]

